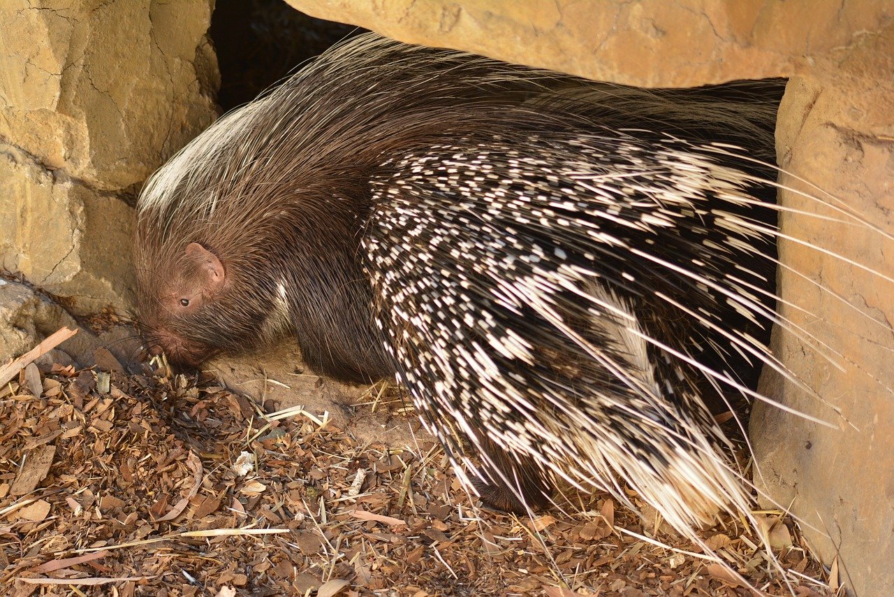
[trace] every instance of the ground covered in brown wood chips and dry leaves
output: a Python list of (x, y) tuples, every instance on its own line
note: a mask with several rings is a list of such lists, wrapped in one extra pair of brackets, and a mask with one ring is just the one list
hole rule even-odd
[[(535, 519), (483, 510), (400, 388), (294, 367), (56, 365), (0, 388), (3, 595), (753, 594), (667, 525), (580, 499)], [(777, 518), (784, 575), (735, 521), (704, 538), (763, 592), (833, 594)]]

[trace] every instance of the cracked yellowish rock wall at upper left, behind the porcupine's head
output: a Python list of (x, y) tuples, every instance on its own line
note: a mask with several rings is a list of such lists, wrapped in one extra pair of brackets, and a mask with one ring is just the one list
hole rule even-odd
[(215, 116), (209, 0), (0, 4), (0, 267), (131, 304), (134, 189)]

